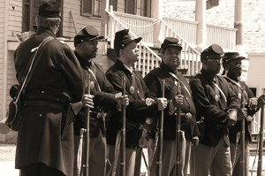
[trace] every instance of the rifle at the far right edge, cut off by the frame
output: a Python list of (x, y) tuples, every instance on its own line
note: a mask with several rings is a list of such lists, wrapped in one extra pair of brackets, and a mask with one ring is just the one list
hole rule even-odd
[(261, 176), (262, 170), (262, 150), (263, 150), (263, 137), (264, 137), (264, 104), (265, 104), (265, 95), (262, 95), (258, 99), (258, 107), (261, 106), (261, 129), (260, 129), (260, 142), (259, 142), (259, 160), (258, 160), (258, 169), (257, 176)]

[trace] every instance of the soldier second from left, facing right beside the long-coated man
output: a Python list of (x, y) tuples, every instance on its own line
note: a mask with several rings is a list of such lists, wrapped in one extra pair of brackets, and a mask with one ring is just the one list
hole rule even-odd
[[(122, 105), (129, 103), (128, 96), (121, 96), (121, 92), (113, 89), (107, 80), (102, 66), (95, 64), (93, 58), (96, 56), (97, 43), (103, 37), (99, 36), (95, 27), (87, 26), (79, 31), (74, 37), (75, 55), (83, 69), (83, 75), (90, 74), (90, 93), (93, 97), (94, 108), (91, 109), (89, 120), (89, 175), (104, 176), (106, 172), (107, 148), (105, 138), (105, 126), (107, 112), (117, 111)], [(79, 149), (79, 131), (85, 127), (86, 104), (89, 105), (91, 95), (83, 96), (83, 108), (74, 122), (75, 134), (75, 163)], [(75, 164), (75, 166), (77, 166)], [(75, 170), (77, 173), (77, 171)], [(77, 175), (77, 174), (76, 174)]]

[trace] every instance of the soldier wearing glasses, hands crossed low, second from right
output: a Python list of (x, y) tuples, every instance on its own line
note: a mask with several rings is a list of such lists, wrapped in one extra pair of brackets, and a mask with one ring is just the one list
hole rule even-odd
[(190, 81), (196, 119), (200, 123), (200, 143), (192, 149), (191, 175), (230, 176), (229, 126), (237, 121), (240, 102), (230, 84), (217, 75), (223, 49), (213, 44), (201, 52), (201, 73)]

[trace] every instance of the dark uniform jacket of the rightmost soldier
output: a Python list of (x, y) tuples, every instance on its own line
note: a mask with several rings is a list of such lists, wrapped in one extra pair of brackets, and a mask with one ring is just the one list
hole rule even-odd
[[(254, 94), (251, 91), (251, 89), (248, 88), (248, 86), (246, 85), (246, 83), (244, 81), (238, 81), (238, 83), (239, 83), (239, 85), (238, 85), (238, 84), (235, 83), (235, 81), (233, 81), (233, 80), (231, 80), (231, 79), (229, 79), (227, 77), (224, 77), (224, 78), (230, 84), (230, 87), (231, 87), (232, 91), (236, 95), (239, 96), (240, 101), (241, 101), (241, 95), (242, 95), (242, 89), (241, 88), (244, 89), (244, 91), (243, 91), (243, 97), (244, 97), (244, 103), (246, 104), (245, 105), (245, 108), (247, 108), (247, 115), (253, 117), (254, 116), (254, 113), (256, 111), (250, 110), (248, 108), (248, 106), (247, 106), (248, 99), (254, 97)], [(239, 86), (241, 88), (239, 88)], [(245, 122), (245, 127), (246, 127), (246, 129), (245, 129), (246, 138), (245, 139), (247, 141), (250, 141), (251, 142), (252, 141), (252, 137), (251, 137), (252, 123), (251, 123), (251, 121), (247, 121), (247, 120), (245, 120), (245, 121), (246, 121)], [(230, 128), (229, 139), (230, 139), (230, 142), (232, 142), (232, 143), (236, 143), (237, 142), (237, 134), (242, 131), (241, 130), (241, 122), (242, 122), (242, 120), (239, 120), (235, 124), (235, 126), (231, 126), (231, 128)]]

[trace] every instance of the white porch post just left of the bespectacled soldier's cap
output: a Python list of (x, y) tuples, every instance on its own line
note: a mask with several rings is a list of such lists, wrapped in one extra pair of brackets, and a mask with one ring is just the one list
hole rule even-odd
[(195, 20), (199, 22), (197, 27), (196, 45), (197, 50), (202, 51), (206, 45), (207, 27), (206, 27), (206, 1), (196, 0)]

